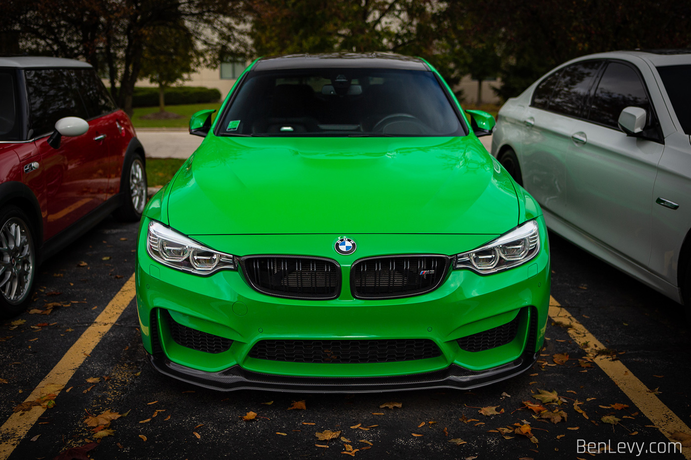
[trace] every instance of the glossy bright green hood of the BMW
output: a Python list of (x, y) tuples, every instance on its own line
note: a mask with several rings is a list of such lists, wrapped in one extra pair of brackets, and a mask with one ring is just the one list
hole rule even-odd
[(167, 188), (187, 235), (504, 233), (513, 182), (477, 137), (216, 137)]

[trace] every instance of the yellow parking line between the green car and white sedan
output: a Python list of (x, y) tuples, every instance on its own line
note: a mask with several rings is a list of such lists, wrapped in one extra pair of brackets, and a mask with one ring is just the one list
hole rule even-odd
[[(576, 318), (571, 316), (565, 308), (559, 305), (552, 296), (549, 296), (549, 317), (552, 318), (554, 323), (567, 327), (569, 336), (571, 336), (581, 348), (592, 352), (606, 348), (593, 334), (590, 334), (588, 329), (585, 329)], [(621, 361), (612, 361), (606, 356), (596, 356), (593, 358), (593, 361), (600, 369), (605, 371), (605, 374), (607, 374), (609, 378), (612, 378), (614, 384), (629, 397), (632, 403), (652, 421), (665, 437), (669, 438), (670, 434), (675, 431), (683, 431), (691, 434), (691, 430), (688, 426), (683, 423), (670, 408), (660, 401), (655, 394), (649, 392), (647, 387), (643, 385), (643, 382), (638, 380)], [(683, 455), (686, 459), (691, 460), (691, 449), (685, 449)]]

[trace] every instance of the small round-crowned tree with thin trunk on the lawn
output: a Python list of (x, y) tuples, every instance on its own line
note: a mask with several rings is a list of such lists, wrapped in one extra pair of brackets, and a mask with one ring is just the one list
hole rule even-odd
[(165, 112), (165, 89), (189, 75), (198, 61), (193, 38), (183, 23), (147, 30), (140, 75), (158, 84), (158, 106)]

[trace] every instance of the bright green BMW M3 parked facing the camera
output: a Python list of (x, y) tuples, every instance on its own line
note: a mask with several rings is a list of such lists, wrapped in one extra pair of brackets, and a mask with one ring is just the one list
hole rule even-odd
[(156, 370), (215, 390), (468, 389), (536, 361), (537, 202), (419, 58), (261, 58), (144, 210), (137, 305)]

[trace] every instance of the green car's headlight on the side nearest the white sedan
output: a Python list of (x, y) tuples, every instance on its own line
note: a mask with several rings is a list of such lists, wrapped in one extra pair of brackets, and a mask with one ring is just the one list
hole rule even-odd
[(456, 269), (471, 269), (481, 275), (522, 265), (540, 252), (538, 222), (529, 220), (473, 251), (456, 256)]

